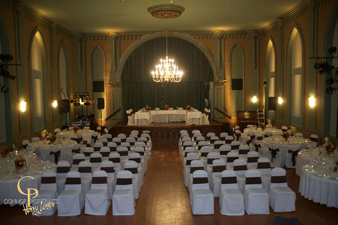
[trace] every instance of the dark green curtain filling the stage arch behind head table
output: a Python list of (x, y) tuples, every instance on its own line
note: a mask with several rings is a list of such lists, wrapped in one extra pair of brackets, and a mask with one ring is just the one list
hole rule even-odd
[[(168, 56), (175, 59), (175, 64), (183, 71), (183, 78), (180, 83), (163, 84), (163, 104), (175, 109), (189, 104), (203, 110), (204, 83), (213, 80), (209, 61), (197, 47), (178, 38), (168, 38)], [(122, 72), (124, 120), (127, 109), (137, 111), (146, 104), (152, 109), (161, 108), (162, 84), (153, 82), (151, 76), (160, 58), (165, 58), (165, 38), (144, 43), (127, 60)]]

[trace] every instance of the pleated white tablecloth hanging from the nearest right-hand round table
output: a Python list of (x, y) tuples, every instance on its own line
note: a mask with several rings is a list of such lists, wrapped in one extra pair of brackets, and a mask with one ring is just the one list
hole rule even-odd
[(322, 177), (316, 171), (306, 171), (304, 166), (299, 181), (299, 192), (304, 198), (338, 208), (338, 174)]

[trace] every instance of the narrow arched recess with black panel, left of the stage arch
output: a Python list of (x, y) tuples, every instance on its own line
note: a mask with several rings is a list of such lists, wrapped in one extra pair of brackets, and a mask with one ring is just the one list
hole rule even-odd
[[(103, 98), (104, 104), (106, 105), (105, 99), (105, 57), (104, 51), (101, 47), (96, 46), (91, 54), (91, 68), (92, 68), (92, 91), (93, 91), (93, 100), (95, 101), (94, 115), (96, 119), (100, 119), (100, 110), (97, 109), (97, 99)], [(105, 119), (105, 110), (102, 109), (102, 120)], [(98, 125), (101, 125), (98, 122)]]

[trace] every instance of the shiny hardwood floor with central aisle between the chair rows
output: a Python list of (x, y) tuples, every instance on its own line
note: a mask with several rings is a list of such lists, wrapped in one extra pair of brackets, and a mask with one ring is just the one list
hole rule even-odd
[(136, 201), (135, 215), (112, 216), (111, 206), (104, 216), (35, 217), (25, 215), (22, 206), (0, 206), (1, 224), (273, 224), (275, 216), (298, 217), (302, 224), (337, 224), (338, 209), (314, 203), (298, 192), (299, 177), (295, 170), (287, 169), (289, 187), (297, 194), (296, 212), (269, 215), (226, 216), (219, 212), (215, 198), (214, 215), (192, 215), (189, 192), (184, 186), (182, 164), (177, 141), (154, 142), (148, 170), (144, 176), (140, 198)]

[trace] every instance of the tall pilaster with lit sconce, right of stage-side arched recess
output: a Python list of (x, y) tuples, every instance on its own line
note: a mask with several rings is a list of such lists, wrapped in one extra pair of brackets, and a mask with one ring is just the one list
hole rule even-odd
[[(259, 67), (257, 68), (257, 58), (259, 59), (259, 35), (260, 32), (257, 30), (249, 30), (247, 31), (249, 42), (250, 42), (250, 55), (249, 55), (249, 92), (250, 92), (250, 99), (249, 106), (250, 110), (257, 110), (259, 108)], [(246, 92), (246, 90), (245, 90)], [(245, 95), (245, 93), (244, 93)], [(251, 101), (252, 96), (257, 96), (257, 102), (253, 103)]]

